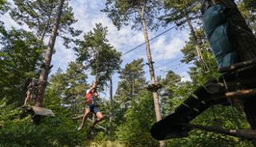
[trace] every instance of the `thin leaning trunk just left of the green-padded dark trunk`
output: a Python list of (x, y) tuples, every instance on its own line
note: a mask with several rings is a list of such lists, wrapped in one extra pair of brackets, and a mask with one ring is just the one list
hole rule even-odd
[(197, 54), (198, 54), (199, 62), (202, 64), (202, 67), (204, 68), (204, 70), (209, 70), (208, 67), (206, 66), (205, 60), (202, 57), (202, 52), (201, 52), (200, 47), (199, 47), (198, 37), (195, 34), (194, 27), (192, 25), (192, 22), (191, 22), (191, 19), (190, 19), (189, 16), (186, 16), (186, 22), (190, 27), (190, 32), (191, 32), (192, 37), (193, 37), (193, 42), (194, 42), (194, 46), (195, 46), (195, 49), (196, 49)]

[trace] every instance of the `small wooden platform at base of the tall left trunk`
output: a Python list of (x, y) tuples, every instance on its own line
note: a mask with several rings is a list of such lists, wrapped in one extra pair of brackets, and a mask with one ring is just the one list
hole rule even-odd
[(19, 109), (22, 109), (25, 113), (31, 113), (33, 115), (55, 117), (51, 109), (47, 109), (43, 107), (26, 105), (26, 106), (22, 106)]

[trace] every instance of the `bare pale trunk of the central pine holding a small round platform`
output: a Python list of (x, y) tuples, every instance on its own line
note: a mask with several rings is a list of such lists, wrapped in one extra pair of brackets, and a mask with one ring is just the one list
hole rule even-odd
[[(146, 42), (146, 56), (147, 56), (147, 61), (150, 69), (151, 84), (156, 84), (156, 80), (154, 77), (154, 66), (153, 66), (153, 61), (152, 61), (151, 51), (150, 51), (150, 41), (147, 33), (146, 20), (144, 18), (144, 8), (142, 8), (140, 16), (141, 16), (143, 34)], [(161, 106), (160, 106), (157, 91), (153, 92), (153, 97), (154, 97), (154, 110), (155, 110), (156, 118), (157, 118), (157, 121), (161, 121), (162, 120)], [(159, 141), (159, 143), (160, 143), (160, 147), (166, 146), (166, 141)]]

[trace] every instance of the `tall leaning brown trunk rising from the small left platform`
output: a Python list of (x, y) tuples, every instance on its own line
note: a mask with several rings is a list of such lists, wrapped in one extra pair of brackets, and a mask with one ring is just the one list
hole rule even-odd
[(44, 96), (47, 81), (48, 81), (48, 75), (50, 73), (50, 62), (53, 55), (54, 44), (58, 34), (58, 26), (59, 26), (61, 15), (62, 15), (63, 3), (64, 3), (64, 0), (61, 0), (59, 3), (58, 14), (54, 22), (53, 30), (50, 34), (50, 40), (49, 40), (45, 58), (42, 64), (42, 72), (38, 80), (38, 97), (35, 102), (35, 105), (37, 106), (42, 106), (43, 96)]

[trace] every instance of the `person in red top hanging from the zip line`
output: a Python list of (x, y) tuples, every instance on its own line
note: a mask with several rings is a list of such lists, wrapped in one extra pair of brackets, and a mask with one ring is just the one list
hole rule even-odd
[(94, 128), (94, 125), (96, 125), (99, 121), (102, 121), (103, 115), (99, 111), (98, 107), (95, 105), (96, 98), (98, 97), (98, 93), (96, 92), (97, 82), (94, 81), (91, 85), (90, 89), (86, 90), (86, 110), (85, 114), (82, 117), (82, 123), (78, 127), (78, 131), (82, 129), (87, 117), (92, 112), (96, 115), (97, 119), (93, 122), (92, 125), (90, 125), (90, 129)]

